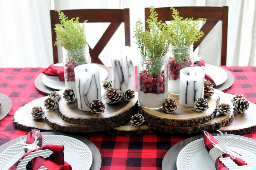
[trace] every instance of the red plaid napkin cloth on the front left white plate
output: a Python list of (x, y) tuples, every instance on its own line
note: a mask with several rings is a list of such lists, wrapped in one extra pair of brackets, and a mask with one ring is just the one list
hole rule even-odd
[[(37, 133), (37, 130), (32, 130), (28, 133), (27, 136), (27, 144), (33, 143), (35, 140), (34, 135)], [(38, 140), (38, 145), (41, 145), (41, 147), (38, 148), (38, 150), (46, 150), (49, 149), (53, 151), (53, 153), (48, 157), (48, 158), (43, 158), (41, 156), (33, 158), (32, 161), (30, 161), (26, 169), (30, 170), (37, 170), (41, 166), (45, 166), (48, 170), (71, 170), (72, 167), (69, 165), (67, 162), (64, 161), (64, 146), (63, 145), (43, 145), (42, 146), (42, 135), (39, 134), (39, 137), (37, 138)], [(37, 142), (35, 142), (37, 143)], [(25, 148), (25, 151), (27, 149)], [(17, 162), (15, 162), (14, 165), (10, 167), (9, 170), (16, 170), (17, 166), (19, 163), (22, 161), (23, 158), (25, 158), (27, 155), (30, 153), (37, 151), (37, 149), (33, 151), (28, 151), (25, 153)]]

